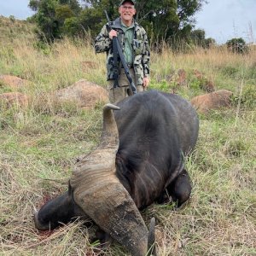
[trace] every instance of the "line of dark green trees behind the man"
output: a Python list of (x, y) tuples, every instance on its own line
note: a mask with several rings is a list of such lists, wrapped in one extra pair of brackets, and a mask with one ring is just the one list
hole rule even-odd
[[(38, 24), (38, 37), (48, 43), (57, 38), (96, 38), (107, 23), (106, 9), (111, 20), (119, 16), (120, 0), (30, 0), (29, 7), (36, 12), (30, 20)], [(137, 0), (136, 20), (148, 32), (150, 44), (159, 47), (165, 42), (177, 48), (180, 44), (209, 48), (216, 44), (206, 38), (205, 31), (195, 27), (195, 14), (207, 0)], [(239, 47), (241, 49), (241, 40)], [(232, 43), (232, 42), (231, 42)], [(233, 43), (230, 45), (232, 46)], [(244, 42), (245, 44), (245, 42)]]

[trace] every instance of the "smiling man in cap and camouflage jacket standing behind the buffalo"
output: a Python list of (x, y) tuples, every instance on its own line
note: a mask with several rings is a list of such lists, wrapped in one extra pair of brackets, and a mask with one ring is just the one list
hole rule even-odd
[(108, 92), (110, 102), (119, 102), (126, 96), (131, 96), (129, 80), (125, 70), (119, 61), (119, 87), (114, 84), (114, 61), (112, 39), (118, 37), (120, 46), (128, 64), (131, 79), (136, 85), (137, 92), (146, 90), (149, 84), (149, 60), (150, 52), (148, 37), (142, 26), (139, 26), (133, 16), (136, 14), (135, 1), (121, 1), (119, 5), (119, 18), (111, 22), (112, 30), (106, 24), (96, 37), (96, 53), (107, 51)]

